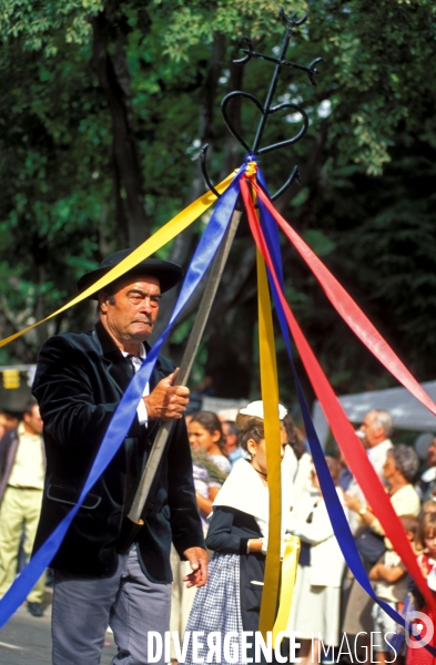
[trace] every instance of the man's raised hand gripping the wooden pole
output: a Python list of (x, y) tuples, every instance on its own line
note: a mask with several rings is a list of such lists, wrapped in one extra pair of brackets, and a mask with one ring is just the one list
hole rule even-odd
[(142, 399), (145, 402), (150, 420), (174, 420), (182, 418), (189, 403), (190, 389), (185, 386), (174, 386), (179, 368), (169, 375)]

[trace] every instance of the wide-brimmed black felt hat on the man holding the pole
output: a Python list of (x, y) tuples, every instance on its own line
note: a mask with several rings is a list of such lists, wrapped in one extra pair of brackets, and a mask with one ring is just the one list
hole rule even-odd
[[(110, 254), (101, 262), (100, 268), (95, 268), (94, 270), (90, 270), (85, 273), (78, 282), (79, 291), (85, 290), (89, 286), (94, 284), (100, 277), (103, 277), (109, 270), (111, 270), (114, 266), (123, 260), (129, 254), (131, 254), (133, 249), (120, 249), (120, 252), (115, 252), (114, 254)], [(170, 260), (162, 260), (160, 258), (145, 258), (134, 266), (131, 270), (124, 273), (125, 275), (143, 275), (156, 277), (159, 279), (161, 286), (161, 293), (165, 293), (170, 290), (173, 286), (179, 284), (179, 282), (183, 277), (183, 268), (178, 264), (174, 264)], [(120, 278), (118, 278), (120, 279)], [(114, 279), (114, 282), (116, 282)], [(94, 300), (98, 300), (98, 293), (90, 296)]]

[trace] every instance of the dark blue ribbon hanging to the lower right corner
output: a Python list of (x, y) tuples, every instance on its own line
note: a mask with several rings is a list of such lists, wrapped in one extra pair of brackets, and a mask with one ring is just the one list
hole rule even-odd
[[(261, 172), (257, 171), (258, 182), (264, 188), (266, 193), (267, 186), (265, 178)], [(282, 265), (282, 255), (281, 255), (281, 246), (280, 246), (280, 237), (278, 237), (278, 228), (274, 217), (271, 215), (265, 205), (257, 200), (260, 207), (260, 216), (261, 216), (261, 227), (264, 233), (265, 242), (270, 250), (271, 259), (274, 265), (274, 270), (276, 273), (277, 279), (281, 285), (282, 291), (284, 291), (284, 280), (283, 280), (283, 265)], [(274, 280), (268, 270), (268, 279), (270, 287), (273, 294), (273, 300), (275, 305), (275, 309), (277, 311), (277, 317), (282, 330), (283, 338), (285, 340), (287, 355), (291, 361), (291, 368), (294, 376), (295, 387), (298, 396), (300, 408), (302, 410), (303, 421), (306, 430), (307, 441), (311, 448), (313, 461), (315, 464), (316, 473), (320, 480), (321, 490), (325, 500), (325, 505), (328, 512), (328, 516), (338, 542), (338, 545), (342, 550), (344, 559), (352, 571), (354, 577), (361, 584), (361, 586), (366, 591), (366, 593), (384, 610), (396, 623), (402, 626), (408, 627), (412, 634), (412, 626), (406, 624), (404, 617), (398, 614), (395, 610), (391, 607), (387, 603), (382, 601), (374, 593), (373, 586), (369, 582), (369, 579), (366, 574), (365, 566), (362, 562), (361, 555), (358, 553), (353, 533), (349, 529), (348, 521), (345, 516), (345, 512), (341, 500), (337, 495), (336, 488), (334, 485), (327, 462), (325, 461), (325, 456), (323, 448), (320, 443), (320, 439), (317, 437), (315, 427), (312, 421), (311, 411), (307, 406), (306, 398), (303, 392), (303, 388), (301, 386), (298, 375), (294, 365), (294, 358), (292, 354), (291, 338), (290, 331), (287, 327), (287, 320), (285, 317), (285, 313), (282, 307), (281, 299), (278, 297), (277, 290), (275, 288)], [(425, 645), (425, 648), (429, 651), (434, 656), (436, 655), (436, 648), (430, 645)]]

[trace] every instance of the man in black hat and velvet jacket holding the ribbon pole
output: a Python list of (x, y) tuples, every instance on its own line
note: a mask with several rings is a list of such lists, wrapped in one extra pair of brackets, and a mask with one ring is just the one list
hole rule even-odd
[[(130, 250), (108, 257), (79, 280), (83, 290)], [(180, 266), (146, 259), (95, 296), (89, 332), (57, 335), (40, 351), (33, 392), (44, 421), (47, 478), (34, 550), (77, 502), (114, 410), (150, 347), (161, 294)], [(191, 563), (187, 585), (206, 580), (206, 553), (192, 481), (183, 412), (189, 390), (174, 386), (174, 365), (159, 356), (150, 387), (123, 444), (87, 495), (54, 555), (53, 663), (100, 662), (111, 625), (116, 665), (148, 663), (148, 633), (168, 631), (170, 548)], [(161, 421), (173, 420), (153, 505), (128, 554), (122, 524)], [(163, 661), (162, 661), (163, 662)]]

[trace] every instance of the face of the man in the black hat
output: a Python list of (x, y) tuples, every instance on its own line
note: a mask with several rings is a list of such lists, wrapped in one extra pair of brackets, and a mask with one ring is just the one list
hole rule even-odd
[(100, 295), (100, 319), (121, 345), (143, 341), (153, 331), (161, 288), (155, 277), (125, 277), (116, 291)]

